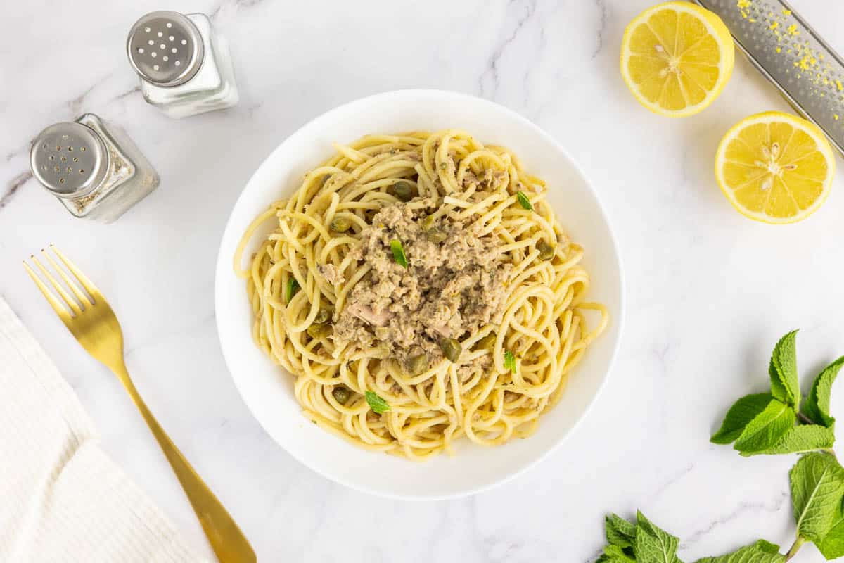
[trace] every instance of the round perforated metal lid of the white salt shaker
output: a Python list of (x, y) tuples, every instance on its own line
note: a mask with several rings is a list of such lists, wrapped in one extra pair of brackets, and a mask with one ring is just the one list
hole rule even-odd
[(141, 78), (164, 87), (193, 78), (205, 56), (197, 26), (178, 12), (151, 12), (138, 19), (129, 30), (126, 50)]

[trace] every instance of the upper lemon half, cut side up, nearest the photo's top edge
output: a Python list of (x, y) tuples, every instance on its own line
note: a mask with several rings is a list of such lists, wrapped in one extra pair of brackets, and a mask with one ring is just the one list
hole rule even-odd
[(703, 111), (733, 73), (727, 26), (692, 3), (657, 4), (636, 16), (621, 41), (621, 75), (642, 106), (663, 116)]

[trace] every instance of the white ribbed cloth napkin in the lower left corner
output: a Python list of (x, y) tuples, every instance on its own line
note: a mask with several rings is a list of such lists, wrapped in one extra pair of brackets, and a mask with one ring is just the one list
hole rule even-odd
[(199, 561), (0, 297), (0, 561)]

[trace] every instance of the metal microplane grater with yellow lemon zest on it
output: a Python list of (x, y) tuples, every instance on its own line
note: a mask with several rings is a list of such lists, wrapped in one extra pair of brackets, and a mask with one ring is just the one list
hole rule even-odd
[(800, 115), (844, 154), (844, 61), (782, 0), (695, 0)]

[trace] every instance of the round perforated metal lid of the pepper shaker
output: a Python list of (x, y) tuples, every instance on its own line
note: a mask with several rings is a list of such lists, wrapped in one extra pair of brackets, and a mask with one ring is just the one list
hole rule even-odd
[(30, 148), (33, 176), (59, 198), (81, 197), (99, 186), (108, 163), (99, 133), (77, 122), (47, 127)]

